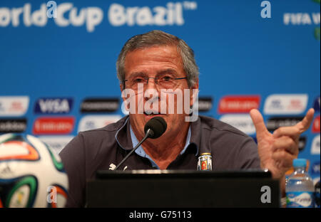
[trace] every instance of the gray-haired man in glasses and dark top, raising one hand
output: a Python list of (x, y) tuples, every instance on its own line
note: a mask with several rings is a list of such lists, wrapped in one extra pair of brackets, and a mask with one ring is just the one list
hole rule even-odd
[[(121, 90), (132, 92), (131, 103), (126, 103), (131, 111), (114, 124), (80, 132), (62, 150), (60, 155), (70, 183), (67, 206), (84, 206), (86, 179), (93, 178), (99, 169), (114, 169), (143, 139), (146, 122), (155, 116), (167, 122), (165, 133), (157, 139), (147, 139), (123, 163), (121, 170), (196, 170), (199, 155), (209, 153), (213, 157), (213, 169), (269, 169), (275, 179), (280, 179), (284, 191), (285, 171), (297, 157), (299, 137), (310, 127), (313, 109), (302, 122), (293, 127), (281, 127), (273, 134), (267, 131), (260, 112), (251, 110), (257, 145), (248, 135), (213, 118), (199, 116), (196, 121), (187, 121), (190, 113), (186, 110), (161, 112), (161, 106), (146, 106), (153, 100), (166, 107), (170, 107), (170, 102), (180, 107), (182, 100), (178, 97), (175, 100), (165, 97), (161, 101), (162, 95), (170, 94), (168, 90), (190, 90), (187, 101), (193, 106), (193, 92), (198, 90), (198, 66), (193, 50), (185, 41), (163, 31), (151, 31), (129, 39), (118, 56), (117, 75)], [(148, 90), (157, 95), (146, 93)], [(183, 95), (183, 101), (186, 96)], [(128, 94), (123, 93), (123, 99), (127, 100)], [(132, 102), (136, 102), (136, 106)], [(141, 112), (140, 104), (145, 107)]]

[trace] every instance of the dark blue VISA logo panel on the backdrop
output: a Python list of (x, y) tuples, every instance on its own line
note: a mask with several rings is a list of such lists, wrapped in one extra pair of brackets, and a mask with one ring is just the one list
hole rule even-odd
[(73, 107), (72, 98), (40, 98), (34, 107), (35, 113), (63, 114)]

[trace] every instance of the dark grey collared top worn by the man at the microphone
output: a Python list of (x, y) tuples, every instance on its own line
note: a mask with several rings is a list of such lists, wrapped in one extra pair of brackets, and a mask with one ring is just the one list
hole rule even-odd
[[(117, 165), (133, 149), (129, 117), (100, 129), (79, 132), (61, 151), (69, 179), (67, 207), (86, 203), (86, 179), (95, 172)], [(197, 169), (198, 155), (212, 154), (213, 169), (260, 169), (258, 147), (251, 137), (210, 117), (199, 116), (190, 123), (190, 144), (168, 169)], [(151, 162), (133, 153), (123, 166), (127, 169), (153, 169)], [(121, 168), (123, 169), (123, 168)]]

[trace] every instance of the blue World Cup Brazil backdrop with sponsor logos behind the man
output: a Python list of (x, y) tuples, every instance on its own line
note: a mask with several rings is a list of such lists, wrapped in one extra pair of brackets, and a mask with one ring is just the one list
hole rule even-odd
[(320, 178), (320, 0), (1, 0), (0, 133), (34, 134), (59, 152), (125, 116), (116, 58), (153, 29), (195, 51), (200, 115), (255, 138), (250, 109), (272, 131), (314, 107), (299, 157)]

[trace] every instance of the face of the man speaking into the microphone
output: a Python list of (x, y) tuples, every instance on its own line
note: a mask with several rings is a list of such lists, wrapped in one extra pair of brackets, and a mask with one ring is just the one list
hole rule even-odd
[[(125, 70), (126, 70), (126, 80), (133, 80), (138, 76), (139, 78), (150, 78), (148, 79), (148, 84), (144, 85), (143, 93), (146, 90), (156, 90), (158, 97), (154, 98), (158, 102), (158, 110), (155, 110), (155, 107), (148, 105), (148, 109), (153, 111), (158, 111), (161, 113), (161, 85), (155, 83), (153, 78), (161, 78), (162, 76), (168, 75), (173, 78), (185, 78), (186, 74), (183, 70), (183, 61), (180, 57), (180, 54), (177, 51), (176, 46), (153, 46), (151, 48), (138, 49), (136, 51), (128, 52), (125, 60)], [(184, 89), (188, 89), (188, 82), (186, 79), (174, 80), (175, 87), (173, 90), (181, 90), (184, 92)], [(198, 84), (197, 84), (198, 87)], [(130, 83), (126, 82), (126, 88), (131, 88)], [(177, 98), (174, 96), (175, 102), (175, 112), (174, 114), (168, 114), (166, 110), (165, 114), (158, 115), (148, 115), (146, 114), (146, 109), (143, 114), (138, 114), (138, 106), (143, 102), (146, 105), (146, 102), (151, 102), (151, 97), (143, 97), (139, 95), (139, 90), (136, 90), (136, 113), (130, 113), (131, 125), (133, 129), (138, 132), (139, 137), (143, 137), (143, 129), (146, 125), (146, 122), (152, 117), (160, 116), (163, 117), (165, 122), (167, 122), (167, 129), (165, 134), (170, 136), (177, 134), (178, 130), (182, 124), (185, 123), (185, 114), (184, 109), (182, 114), (177, 114)], [(141, 92), (142, 93), (142, 92)], [(162, 93), (163, 94), (163, 93)], [(164, 94), (163, 94), (164, 95)], [(168, 98), (166, 101), (166, 107), (169, 106)], [(184, 101), (184, 99), (183, 99)], [(153, 100), (154, 102), (154, 100)], [(137, 105), (138, 104), (138, 105)], [(183, 105), (182, 105), (183, 107)], [(165, 135), (164, 134), (164, 135)], [(138, 135), (136, 135), (138, 136)]]

